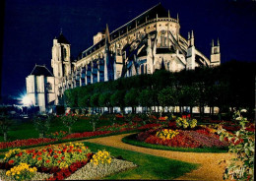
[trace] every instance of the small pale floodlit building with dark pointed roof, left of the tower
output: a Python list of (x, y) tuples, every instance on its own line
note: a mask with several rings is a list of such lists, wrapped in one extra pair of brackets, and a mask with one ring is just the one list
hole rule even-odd
[(54, 83), (54, 76), (44, 65), (35, 65), (31, 75), (26, 78), (27, 96), (32, 105), (39, 106), (40, 112), (49, 112), (54, 105)]

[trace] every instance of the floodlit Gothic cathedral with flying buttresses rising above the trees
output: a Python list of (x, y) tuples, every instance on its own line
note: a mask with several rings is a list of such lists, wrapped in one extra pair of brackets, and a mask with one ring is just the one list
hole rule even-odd
[(221, 64), (219, 39), (207, 58), (195, 45), (193, 30), (180, 34), (179, 18), (158, 4), (120, 28), (97, 32), (94, 44), (71, 59), (71, 44), (60, 33), (53, 39), (55, 104), (65, 90), (165, 69), (178, 72)]

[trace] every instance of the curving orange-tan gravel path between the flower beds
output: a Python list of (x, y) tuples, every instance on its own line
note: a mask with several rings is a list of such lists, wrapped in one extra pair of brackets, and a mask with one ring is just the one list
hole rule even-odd
[(104, 146), (115, 147), (128, 151), (138, 151), (152, 155), (182, 160), (191, 163), (200, 163), (201, 166), (190, 173), (187, 173), (176, 180), (223, 180), (224, 165), (219, 165), (222, 159), (231, 158), (230, 153), (202, 153), (202, 152), (181, 152), (181, 151), (161, 151), (147, 148), (140, 148), (122, 143), (122, 138), (130, 134), (103, 137), (85, 140), (81, 142), (96, 143)]

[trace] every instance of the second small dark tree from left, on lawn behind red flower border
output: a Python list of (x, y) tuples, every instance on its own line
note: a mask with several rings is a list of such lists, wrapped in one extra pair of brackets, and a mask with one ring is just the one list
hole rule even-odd
[(38, 131), (39, 138), (45, 137), (46, 132), (50, 128), (51, 120), (52, 120), (51, 116), (42, 117), (42, 116), (38, 115), (38, 116), (33, 117), (33, 126), (34, 126), (35, 130)]

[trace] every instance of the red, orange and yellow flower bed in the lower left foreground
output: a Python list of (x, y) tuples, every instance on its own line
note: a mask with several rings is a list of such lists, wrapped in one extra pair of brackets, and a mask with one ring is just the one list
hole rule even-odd
[[(99, 167), (104, 165), (105, 170), (108, 170), (112, 157), (108, 151), (97, 151), (94, 154), (82, 143), (49, 145), (38, 150), (15, 149), (7, 152), (4, 161), (0, 162), (0, 180), (21, 180), (21, 178), (27, 178), (26, 180), (31, 180), (31, 178), (36, 178), (35, 180), (38, 178), (63, 180), (89, 162), (90, 165), (93, 164)], [(121, 167), (122, 169), (119, 170), (127, 168), (125, 165)], [(131, 167), (131, 165), (128, 167)], [(113, 173), (112, 171), (110, 173)], [(38, 174), (38, 172), (43, 174)], [(102, 172), (99, 170), (99, 173)], [(105, 174), (107, 173), (103, 175)], [(99, 176), (101, 175), (99, 174)]]

